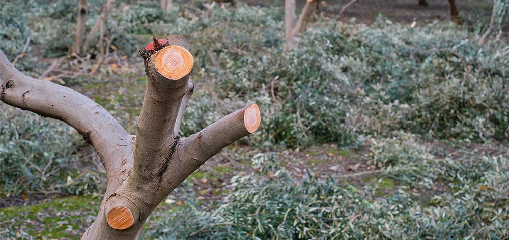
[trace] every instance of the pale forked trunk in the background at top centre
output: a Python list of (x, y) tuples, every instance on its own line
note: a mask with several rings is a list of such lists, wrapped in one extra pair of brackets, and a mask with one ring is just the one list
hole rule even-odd
[(296, 47), (299, 36), (306, 31), (307, 25), (318, 7), (318, 2), (318, 0), (306, 0), (306, 4), (297, 19), (295, 0), (285, 0), (285, 51)]

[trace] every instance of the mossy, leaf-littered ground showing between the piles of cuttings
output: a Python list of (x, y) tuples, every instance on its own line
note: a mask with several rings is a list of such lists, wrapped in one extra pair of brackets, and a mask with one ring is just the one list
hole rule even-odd
[[(272, 5), (273, 1), (247, 0), (253, 5)], [(299, 1), (297, 1), (299, 2)], [(303, 2), (303, 1), (300, 1)], [(320, 12), (334, 16), (348, 0), (327, 1), (320, 6)], [(278, 1), (282, 5), (284, 1)], [(468, 21), (466, 12), (477, 12), (489, 16), (491, 13), (491, 0), (467, 1), (457, 0), (460, 16)], [(410, 23), (413, 21), (449, 20), (448, 3), (445, 0), (428, 0), (428, 6), (418, 6), (416, 0), (377, 1), (359, 0), (345, 12), (342, 19), (355, 18), (356, 22), (371, 22), (380, 13), (392, 21)], [(40, 55), (41, 48), (34, 46), (29, 55)], [(123, 58), (123, 57), (121, 57)], [(49, 63), (51, 59), (43, 59)], [(128, 109), (126, 119), (133, 119), (139, 114), (139, 103), (143, 98), (145, 76), (135, 69), (142, 69), (140, 58), (123, 58), (119, 62), (106, 62), (106, 73), (100, 75), (107, 79), (108, 74), (115, 74), (113, 80), (101, 80), (101, 77), (92, 84), (82, 86), (67, 82), (71, 88), (76, 89), (99, 104), (108, 106), (121, 104), (120, 109)], [(86, 79), (79, 76), (77, 82)], [(203, 86), (201, 86), (203, 87)], [(112, 102), (112, 99), (115, 102)], [(124, 124), (126, 127), (127, 123)], [(134, 129), (128, 131), (133, 132)], [(472, 149), (495, 155), (494, 152), (509, 157), (507, 149), (500, 143), (493, 142), (489, 146), (480, 146), (475, 143), (458, 143), (450, 145), (438, 140), (429, 140), (427, 147), (436, 153), (462, 155)], [(504, 150), (505, 149), (505, 150)], [(90, 149), (84, 150), (91, 152)], [(183, 188), (191, 188), (198, 200), (208, 204), (212, 199), (221, 198), (229, 192), (227, 183), (234, 175), (247, 174), (253, 171), (251, 159), (260, 153), (260, 149), (249, 146), (236, 145), (224, 149), (214, 156), (199, 170), (194, 172), (183, 184)], [(94, 153), (90, 153), (94, 155)], [(290, 149), (281, 153), (281, 166), (294, 171), (297, 176), (303, 172), (314, 172), (317, 175), (328, 175), (348, 181), (354, 185), (373, 185), (380, 190), (380, 194), (391, 194), (400, 184), (393, 179), (377, 180), (379, 169), (371, 163), (370, 151), (367, 146), (358, 148), (342, 148), (335, 144), (324, 144), (306, 149)], [(437, 154), (438, 155), (438, 154)], [(89, 158), (94, 158), (94, 156)], [(97, 158), (97, 157), (95, 157)], [(271, 177), (273, 172), (267, 173)], [(422, 196), (423, 201), (429, 200), (434, 194), (447, 191), (447, 188), (437, 185), (435, 189), (412, 189), (415, 196)], [(157, 211), (169, 211), (174, 207), (185, 204), (180, 197), (180, 191), (172, 194), (166, 201), (158, 206)], [(98, 211), (100, 194), (94, 196), (66, 196), (60, 194), (36, 194), (30, 197), (20, 196), (0, 199), (0, 234), (5, 229), (11, 229), (13, 234), (20, 238), (37, 236), (43, 239), (79, 238), (80, 234), (95, 218)], [(150, 227), (150, 221), (147, 224)], [(60, 229), (60, 231), (56, 231)]]

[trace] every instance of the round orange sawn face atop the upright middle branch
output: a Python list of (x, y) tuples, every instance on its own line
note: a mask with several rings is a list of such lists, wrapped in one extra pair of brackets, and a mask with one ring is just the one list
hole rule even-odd
[(185, 77), (191, 72), (193, 64), (191, 53), (177, 45), (167, 46), (154, 56), (154, 67), (157, 72), (171, 80)]

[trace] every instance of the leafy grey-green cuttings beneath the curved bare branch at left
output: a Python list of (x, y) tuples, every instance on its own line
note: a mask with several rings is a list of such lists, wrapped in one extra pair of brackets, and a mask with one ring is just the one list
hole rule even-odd
[(82, 141), (72, 127), (5, 104), (0, 105), (0, 123), (2, 197), (43, 190), (83, 194), (99, 188), (95, 174), (81, 168), (76, 146)]

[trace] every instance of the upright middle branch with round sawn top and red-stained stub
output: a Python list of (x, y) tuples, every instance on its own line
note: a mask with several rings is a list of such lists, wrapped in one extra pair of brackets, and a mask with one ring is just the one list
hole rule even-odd
[(175, 125), (182, 98), (188, 92), (193, 65), (189, 43), (182, 36), (168, 36), (168, 46), (159, 46), (159, 43), (155, 40), (153, 50), (146, 47), (140, 51), (145, 59), (147, 85), (136, 125), (132, 177), (139, 178), (142, 183), (150, 182), (164, 167), (165, 151), (178, 134), (174, 132)]

